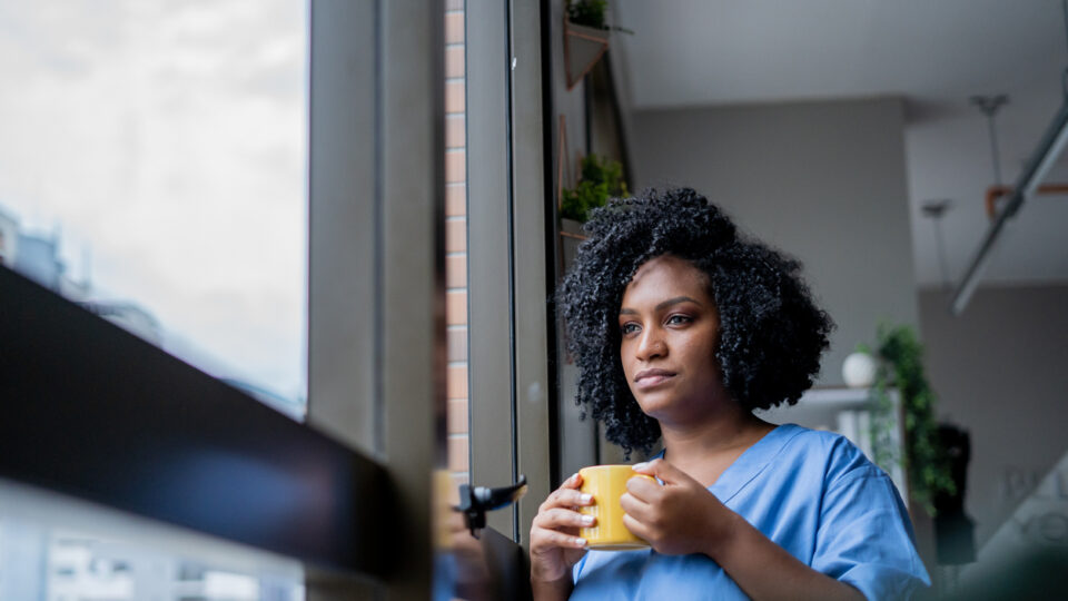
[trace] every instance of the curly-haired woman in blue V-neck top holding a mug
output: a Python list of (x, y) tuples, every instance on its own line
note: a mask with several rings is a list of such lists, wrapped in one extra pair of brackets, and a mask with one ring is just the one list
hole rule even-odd
[(893, 599), (928, 584), (889, 476), (848, 440), (752, 411), (812, 385), (830, 318), (800, 265), (690, 189), (613, 200), (560, 292), (578, 402), (635, 472), (639, 551), (587, 551), (571, 476), (531, 529), (535, 599)]

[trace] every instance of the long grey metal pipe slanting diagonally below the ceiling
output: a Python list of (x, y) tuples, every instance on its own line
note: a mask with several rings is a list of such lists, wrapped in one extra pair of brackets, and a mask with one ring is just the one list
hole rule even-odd
[(960, 315), (963, 313), (965, 307), (968, 306), (968, 300), (971, 299), (976, 287), (979, 286), (979, 277), (990, 257), (990, 250), (1001, 234), (1001, 228), (1005, 227), (1006, 221), (1020, 210), (1020, 207), (1024, 206), (1024, 200), (1030, 198), (1039, 184), (1042, 183), (1046, 174), (1050, 167), (1054, 166), (1054, 161), (1060, 156), (1065, 142), (1068, 142), (1068, 100), (1060, 106), (1060, 110), (1054, 117), (1052, 122), (1049, 124), (1046, 134), (1042, 135), (1041, 141), (1039, 141), (1035, 151), (1025, 164), (1024, 170), (1020, 171), (1020, 177), (1017, 178), (1016, 185), (1012, 186), (1012, 195), (998, 216), (998, 220), (990, 224), (990, 229), (988, 229), (986, 236), (983, 236), (975, 258), (971, 259), (971, 265), (968, 266), (963, 279), (961, 279), (957, 286), (953, 300), (949, 306), (951, 314)]

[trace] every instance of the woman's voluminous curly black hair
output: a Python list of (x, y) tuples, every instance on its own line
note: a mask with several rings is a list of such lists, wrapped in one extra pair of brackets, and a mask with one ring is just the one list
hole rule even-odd
[(660, 439), (620, 359), (623, 292), (651, 258), (674, 255), (706, 275), (720, 315), (716, 361), (744, 410), (792, 405), (812, 386), (834, 324), (813, 302), (801, 264), (742, 236), (705, 197), (649, 189), (594, 210), (583, 229), (587, 238), (556, 294), (580, 372), (575, 402), (627, 455), (649, 453)]

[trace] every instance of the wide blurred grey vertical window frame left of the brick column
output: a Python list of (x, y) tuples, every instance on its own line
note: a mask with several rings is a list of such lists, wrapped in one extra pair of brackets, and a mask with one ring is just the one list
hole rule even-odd
[(390, 597), (425, 599), (445, 464), (444, 6), (313, 0), (312, 40), (308, 421), (387, 470), (402, 520), (368, 544), (396, 563)]

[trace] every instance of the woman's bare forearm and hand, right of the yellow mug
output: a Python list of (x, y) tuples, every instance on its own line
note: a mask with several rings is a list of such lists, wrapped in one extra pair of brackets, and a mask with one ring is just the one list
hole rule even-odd
[(801, 563), (699, 482), (663, 460), (635, 466), (620, 501), (626, 526), (660, 553), (704, 553), (753, 599), (863, 600), (857, 589)]

